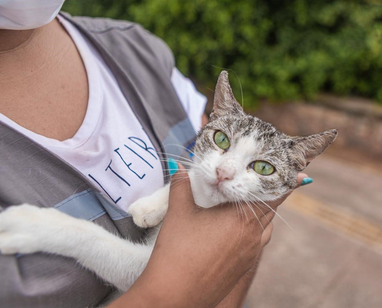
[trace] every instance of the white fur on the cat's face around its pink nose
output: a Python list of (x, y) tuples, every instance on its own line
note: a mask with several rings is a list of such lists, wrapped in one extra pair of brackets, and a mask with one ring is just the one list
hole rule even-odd
[[(230, 135), (228, 134), (228, 138)], [(212, 136), (213, 139), (213, 136)], [(233, 138), (230, 140), (234, 140)], [(225, 152), (216, 146), (202, 157), (194, 156), (197, 167), (190, 171), (189, 177), (195, 202), (202, 207), (211, 207), (225, 202), (261, 202), (275, 200), (286, 193), (288, 188), (277, 189), (270, 194), (262, 188), (261, 177), (249, 165), (256, 160), (265, 160), (276, 166), (277, 162), (262, 151), (263, 144), (255, 144), (252, 136), (241, 137), (231, 142)], [(217, 169), (227, 178), (219, 181)], [(267, 176), (269, 181), (277, 181), (277, 172)], [(257, 199), (257, 200), (256, 200)]]

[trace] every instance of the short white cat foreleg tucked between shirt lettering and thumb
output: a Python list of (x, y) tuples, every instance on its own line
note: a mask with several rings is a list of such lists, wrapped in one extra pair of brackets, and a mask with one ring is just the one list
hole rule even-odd
[(154, 194), (138, 199), (129, 206), (127, 212), (133, 216), (134, 223), (138, 227), (157, 226), (167, 212), (169, 193), (170, 184), (167, 184), (154, 192)]

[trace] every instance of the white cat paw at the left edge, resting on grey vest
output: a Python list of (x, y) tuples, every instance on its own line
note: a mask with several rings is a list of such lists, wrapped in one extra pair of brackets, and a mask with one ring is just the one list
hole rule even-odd
[(54, 236), (51, 226), (57, 226), (62, 215), (54, 208), (28, 204), (0, 212), (0, 252), (9, 255), (42, 251), (47, 239)]

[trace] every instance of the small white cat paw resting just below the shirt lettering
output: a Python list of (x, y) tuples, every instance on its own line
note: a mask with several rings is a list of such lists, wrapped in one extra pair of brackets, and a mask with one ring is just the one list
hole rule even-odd
[(133, 216), (134, 224), (138, 227), (148, 228), (157, 226), (165, 217), (167, 207), (157, 206), (150, 199), (150, 197), (141, 198), (130, 205), (128, 209), (128, 213)]

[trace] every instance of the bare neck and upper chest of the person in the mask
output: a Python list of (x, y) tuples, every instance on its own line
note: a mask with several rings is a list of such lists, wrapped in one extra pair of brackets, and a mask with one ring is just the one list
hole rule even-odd
[(73, 137), (86, 113), (89, 87), (65, 28), (53, 19), (34, 31), (0, 35), (0, 113), (48, 138)]

